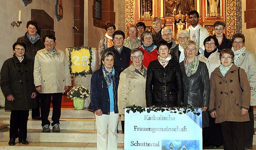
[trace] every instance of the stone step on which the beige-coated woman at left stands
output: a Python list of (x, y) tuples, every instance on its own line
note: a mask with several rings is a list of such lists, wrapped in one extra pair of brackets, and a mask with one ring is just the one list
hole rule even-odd
[[(9, 130), (0, 132), (0, 142), (10, 140)], [(29, 142), (96, 143), (96, 130), (60, 130), (59, 133), (43, 133), (40, 129), (28, 129)], [(124, 134), (118, 133), (118, 143), (124, 143)]]

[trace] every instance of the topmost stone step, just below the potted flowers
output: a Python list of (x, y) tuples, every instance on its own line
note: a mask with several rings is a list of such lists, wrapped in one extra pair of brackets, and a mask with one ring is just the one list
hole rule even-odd
[[(10, 111), (5, 111), (4, 108), (0, 108), (0, 118), (10, 118)], [(50, 109), (49, 117), (52, 117), (52, 108)], [(29, 111), (29, 118), (31, 118), (31, 111)], [(60, 118), (86, 118), (92, 119), (95, 118), (95, 114), (88, 109), (75, 110), (69, 108), (61, 109)]]

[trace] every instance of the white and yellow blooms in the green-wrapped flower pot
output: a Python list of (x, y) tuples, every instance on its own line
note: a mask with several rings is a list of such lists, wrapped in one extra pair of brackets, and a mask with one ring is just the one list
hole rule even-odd
[(76, 98), (86, 99), (87, 97), (90, 96), (90, 91), (89, 89), (80, 85), (80, 86), (72, 87), (67, 94), (68, 94), (68, 98), (71, 98), (72, 100)]

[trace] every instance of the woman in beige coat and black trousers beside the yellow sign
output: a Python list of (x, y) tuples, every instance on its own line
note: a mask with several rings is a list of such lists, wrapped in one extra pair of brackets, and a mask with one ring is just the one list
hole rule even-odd
[(34, 83), (40, 93), (43, 132), (50, 132), (50, 103), (52, 97), (52, 131), (60, 132), (62, 93), (71, 86), (68, 61), (63, 51), (54, 47), (56, 38), (47, 34), (43, 41), (45, 48), (36, 53), (34, 61)]

